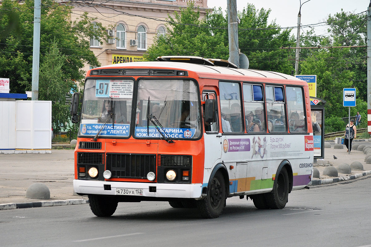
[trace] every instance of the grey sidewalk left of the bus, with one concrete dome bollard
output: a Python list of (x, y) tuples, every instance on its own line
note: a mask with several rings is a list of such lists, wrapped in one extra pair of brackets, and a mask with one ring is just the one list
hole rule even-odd
[(32, 206), (31, 202), (42, 201), (25, 197), (27, 188), (36, 182), (44, 183), (50, 191), (50, 200), (43, 204), (86, 203), (87, 197), (73, 195), (73, 152), (73, 149), (52, 149), (50, 154), (0, 154), (0, 210), (1, 204), (28, 207)]

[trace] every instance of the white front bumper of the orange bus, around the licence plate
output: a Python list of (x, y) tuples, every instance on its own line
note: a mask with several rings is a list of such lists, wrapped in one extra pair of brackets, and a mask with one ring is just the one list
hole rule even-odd
[[(154, 191), (153, 187), (155, 187), (156, 192), (150, 192), (150, 187), (151, 191)], [(111, 190), (108, 190), (108, 188), (111, 188)], [(138, 195), (138, 197), (200, 198), (202, 184), (156, 184), (73, 180), (73, 190), (78, 194), (116, 195), (116, 189), (142, 189), (143, 195)]]

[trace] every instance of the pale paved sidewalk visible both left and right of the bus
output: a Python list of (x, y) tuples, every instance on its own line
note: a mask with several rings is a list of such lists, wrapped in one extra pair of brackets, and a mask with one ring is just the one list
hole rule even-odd
[[(324, 160), (318, 160), (314, 165), (319, 170), (320, 178), (313, 178), (309, 186), (371, 177), (371, 164), (366, 164), (362, 151), (354, 149), (348, 154), (345, 145), (344, 149), (334, 149), (334, 142), (329, 143), (331, 148), (325, 148)], [(353, 144), (371, 146), (368, 140), (353, 141)], [(73, 195), (73, 152), (73, 149), (52, 149), (50, 154), (0, 154), (0, 210), (86, 203), (87, 197)], [(338, 159), (334, 159), (334, 155)], [(336, 167), (341, 163), (350, 165), (354, 161), (361, 162), (364, 171), (339, 173), (335, 178), (323, 175), (326, 166)], [(36, 182), (42, 182), (49, 188), (50, 200), (25, 197), (27, 188)]]

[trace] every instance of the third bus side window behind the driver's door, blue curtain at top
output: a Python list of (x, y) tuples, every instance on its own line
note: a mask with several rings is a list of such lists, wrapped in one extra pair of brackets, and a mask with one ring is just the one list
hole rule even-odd
[(277, 86), (265, 86), (265, 97), (267, 107), (268, 131), (287, 132), (283, 88)]

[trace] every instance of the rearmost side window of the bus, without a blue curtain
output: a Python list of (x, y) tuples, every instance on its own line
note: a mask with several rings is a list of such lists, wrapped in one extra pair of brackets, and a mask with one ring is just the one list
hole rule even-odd
[(307, 132), (303, 98), (302, 88), (286, 87), (286, 102), (290, 132)]

